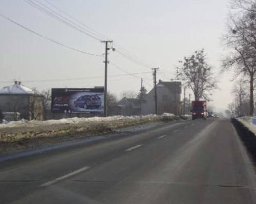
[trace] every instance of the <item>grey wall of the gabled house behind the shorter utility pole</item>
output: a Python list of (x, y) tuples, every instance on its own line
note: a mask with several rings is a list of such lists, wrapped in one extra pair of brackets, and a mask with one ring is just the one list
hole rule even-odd
[[(171, 93), (166, 87), (157, 87), (158, 114), (176, 113), (176, 94)], [(177, 109), (179, 110), (181, 94), (177, 94)], [(141, 114), (155, 114), (155, 92), (152, 89), (145, 97), (142, 103)]]

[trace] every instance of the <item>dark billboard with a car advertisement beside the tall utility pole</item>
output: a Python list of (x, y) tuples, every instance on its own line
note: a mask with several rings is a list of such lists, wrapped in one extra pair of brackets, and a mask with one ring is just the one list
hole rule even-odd
[(103, 113), (104, 88), (52, 89), (52, 113)]

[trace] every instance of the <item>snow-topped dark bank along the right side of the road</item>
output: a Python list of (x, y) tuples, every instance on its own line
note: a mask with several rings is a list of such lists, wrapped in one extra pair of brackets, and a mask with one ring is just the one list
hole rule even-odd
[(254, 124), (254, 117), (231, 118), (231, 121), (251, 155), (254, 164), (256, 164), (256, 124)]

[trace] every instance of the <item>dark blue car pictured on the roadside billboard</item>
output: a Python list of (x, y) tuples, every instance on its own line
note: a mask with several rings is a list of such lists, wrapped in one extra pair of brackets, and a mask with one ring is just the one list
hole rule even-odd
[(84, 109), (95, 107), (97, 109), (101, 106), (101, 99), (98, 95), (83, 95), (75, 100), (74, 106)]

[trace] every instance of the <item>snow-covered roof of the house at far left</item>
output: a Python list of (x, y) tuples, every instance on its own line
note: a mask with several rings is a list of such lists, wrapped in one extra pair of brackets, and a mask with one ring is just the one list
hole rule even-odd
[(6, 86), (0, 90), (0, 94), (33, 94), (32, 89), (22, 85), (13, 84), (11, 86)]

